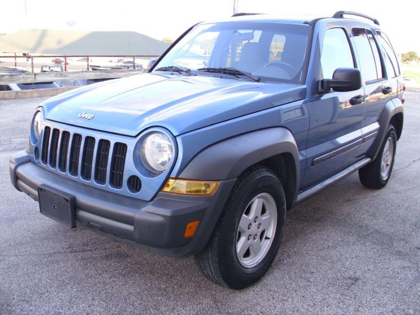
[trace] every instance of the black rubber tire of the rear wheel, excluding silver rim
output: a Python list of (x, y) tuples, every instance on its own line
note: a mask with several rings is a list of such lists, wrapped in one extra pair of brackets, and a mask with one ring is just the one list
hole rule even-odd
[[(383, 176), (383, 174), (381, 173), (381, 166), (384, 158), (385, 145), (388, 139), (391, 139), (392, 143), (394, 144), (394, 147), (392, 150), (392, 160), (389, 164), (389, 171), (387, 172), (386, 176)], [(394, 167), (395, 152), (396, 132), (394, 126), (389, 125), (386, 131), (386, 136), (383, 139), (383, 143), (381, 145), (381, 150), (379, 150), (378, 156), (373, 162), (363, 166), (359, 170), (359, 179), (363, 186), (371, 189), (381, 189), (383, 186), (386, 185), (386, 183), (388, 183), (388, 180), (391, 177), (392, 168)]]

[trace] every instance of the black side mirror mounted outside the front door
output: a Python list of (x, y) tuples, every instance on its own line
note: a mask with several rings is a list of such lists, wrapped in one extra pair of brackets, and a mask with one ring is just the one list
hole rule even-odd
[(319, 81), (318, 93), (323, 94), (333, 89), (336, 92), (355, 91), (362, 87), (362, 75), (356, 68), (337, 68), (332, 79)]

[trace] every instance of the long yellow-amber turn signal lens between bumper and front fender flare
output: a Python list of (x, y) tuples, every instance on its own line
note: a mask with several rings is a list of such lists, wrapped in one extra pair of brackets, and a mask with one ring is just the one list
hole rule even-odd
[(211, 195), (219, 186), (218, 181), (194, 181), (189, 179), (169, 178), (163, 187), (163, 192), (172, 194), (206, 196)]

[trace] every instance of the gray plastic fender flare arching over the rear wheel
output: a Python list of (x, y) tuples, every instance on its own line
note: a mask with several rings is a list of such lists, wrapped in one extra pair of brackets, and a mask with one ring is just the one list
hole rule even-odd
[(383, 107), (381, 116), (379, 117), (379, 132), (375, 142), (373, 142), (372, 147), (370, 148), (370, 156), (375, 157), (378, 155), (379, 150), (381, 150), (383, 139), (386, 136), (386, 130), (388, 129), (389, 122), (391, 121), (391, 118), (397, 113), (404, 114), (404, 106), (402, 105), (402, 102), (399, 100), (399, 98), (394, 98), (386, 102), (385, 106)]

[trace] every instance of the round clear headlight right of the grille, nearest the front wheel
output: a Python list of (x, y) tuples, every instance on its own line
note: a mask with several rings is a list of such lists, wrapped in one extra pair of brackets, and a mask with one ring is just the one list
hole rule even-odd
[(142, 160), (152, 173), (165, 171), (171, 164), (173, 147), (171, 140), (162, 132), (152, 132), (143, 141)]

